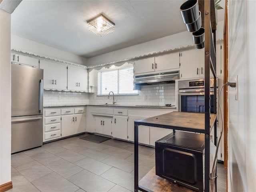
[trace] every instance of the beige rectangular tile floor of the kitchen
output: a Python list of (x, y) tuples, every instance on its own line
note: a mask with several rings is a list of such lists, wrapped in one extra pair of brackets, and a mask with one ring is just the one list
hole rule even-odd
[[(9, 192), (134, 191), (134, 145), (114, 139), (98, 144), (80, 137), (12, 155), (13, 189)], [(142, 178), (155, 165), (154, 148), (139, 146), (139, 154)], [(218, 192), (225, 192), (222, 164), (218, 173)]]

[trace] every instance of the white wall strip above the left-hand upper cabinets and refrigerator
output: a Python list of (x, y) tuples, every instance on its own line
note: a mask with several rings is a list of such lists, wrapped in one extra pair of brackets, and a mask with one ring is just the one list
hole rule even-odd
[(87, 65), (87, 59), (84, 57), (80, 57), (66, 51), (62, 51), (50, 46), (46, 46), (44, 44), (40, 44), (38, 42), (21, 38), (16, 35), (11, 35), (11, 49), (38, 54), (40, 56), (47, 56), (50, 58), (65, 60), (68, 62), (74, 62), (81, 65)]

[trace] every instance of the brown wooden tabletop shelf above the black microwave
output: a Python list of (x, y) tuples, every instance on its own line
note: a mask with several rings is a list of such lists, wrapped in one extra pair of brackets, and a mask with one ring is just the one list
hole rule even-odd
[[(210, 114), (210, 117), (210, 127), (213, 127), (216, 114)], [(170, 112), (135, 121), (135, 124), (164, 127), (176, 130), (193, 129), (202, 133), (204, 133), (205, 130), (204, 113)]]

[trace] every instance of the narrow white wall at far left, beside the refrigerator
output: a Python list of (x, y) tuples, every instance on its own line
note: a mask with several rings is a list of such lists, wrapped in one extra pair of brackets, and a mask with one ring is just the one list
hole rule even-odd
[(11, 181), (11, 14), (0, 10), (0, 185)]

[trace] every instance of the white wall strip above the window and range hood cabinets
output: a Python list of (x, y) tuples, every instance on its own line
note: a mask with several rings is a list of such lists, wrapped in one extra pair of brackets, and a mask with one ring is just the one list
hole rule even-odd
[[(224, 21), (218, 22), (216, 40), (223, 39), (223, 24)], [(110, 53), (102, 54), (100, 56), (88, 58), (87, 64), (88, 66), (96, 66), (100, 64), (134, 58), (136, 56), (143, 56), (145, 54), (152, 54), (165, 50), (180, 48), (183, 46), (187, 47), (188, 45), (194, 45), (192, 40), (192, 33), (185, 31)]]

